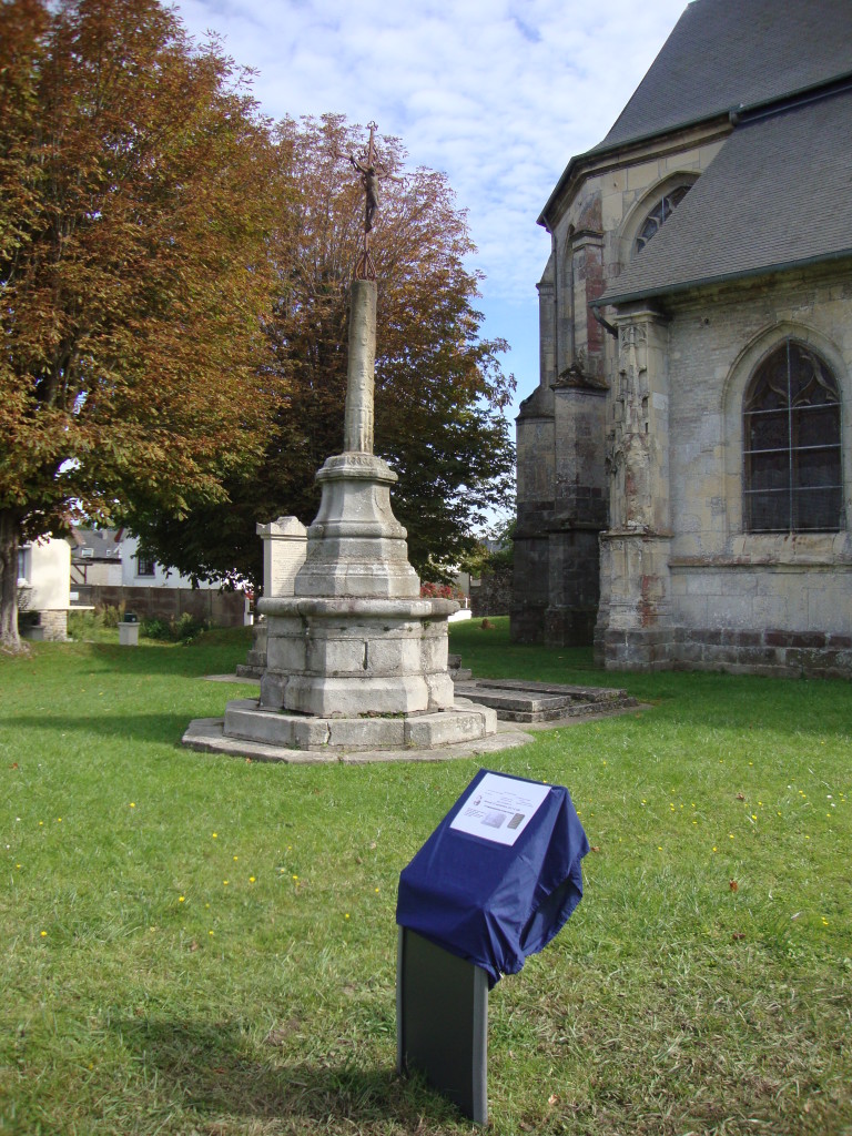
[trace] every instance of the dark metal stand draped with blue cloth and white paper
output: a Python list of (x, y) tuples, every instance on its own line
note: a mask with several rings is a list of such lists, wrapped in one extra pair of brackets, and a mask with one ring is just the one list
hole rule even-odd
[(400, 876), (396, 1056), (487, 1120), (487, 993), (559, 933), (588, 851), (568, 790), (481, 769)]

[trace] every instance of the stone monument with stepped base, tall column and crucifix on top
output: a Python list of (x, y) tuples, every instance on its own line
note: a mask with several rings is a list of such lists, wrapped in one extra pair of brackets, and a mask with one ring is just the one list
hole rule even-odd
[[(353, 164), (354, 159), (353, 159)], [(371, 267), (370, 127), (362, 275)], [(344, 452), (317, 473), (319, 512), (292, 596), (264, 598), (267, 662), (260, 700), (227, 707), (224, 742), (287, 750), (406, 750), (485, 737), (493, 710), (456, 702), (448, 618), (458, 604), (420, 598), (406, 529), (393, 516), (396, 474), (373, 452), (375, 279), (352, 283)], [(187, 738), (187, 744), (192, 744)]]

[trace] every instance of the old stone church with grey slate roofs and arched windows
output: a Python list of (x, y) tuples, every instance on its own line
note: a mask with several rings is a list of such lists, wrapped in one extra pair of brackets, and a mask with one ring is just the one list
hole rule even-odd
[(852, 677), (852, 2), (693, 0), (538, 223), (513, 638)]

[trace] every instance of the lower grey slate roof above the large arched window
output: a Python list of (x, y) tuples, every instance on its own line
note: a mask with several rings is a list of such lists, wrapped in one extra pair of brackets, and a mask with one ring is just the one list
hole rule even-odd
[(852, 257), (851, 140), (852, 89), (743, 120), (600, 303)]

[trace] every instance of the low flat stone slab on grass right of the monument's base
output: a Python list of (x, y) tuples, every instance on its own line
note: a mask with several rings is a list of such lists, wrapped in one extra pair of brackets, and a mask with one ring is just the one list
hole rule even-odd
[(479, 678), (457, 682), (457, 698), (496, 710), (502, 721), (543, 722), (587, 715), (616, 713), (638, 705), (625, 690), (607, 686), (561, 686), (556, 683)]

